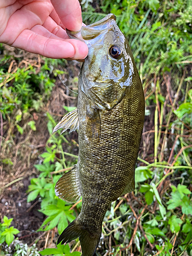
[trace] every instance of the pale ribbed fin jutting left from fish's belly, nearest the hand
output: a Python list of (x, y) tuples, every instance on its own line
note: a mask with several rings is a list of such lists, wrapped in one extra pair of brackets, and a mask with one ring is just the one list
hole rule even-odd
[(78, 117), (77, 109), (71, 111), (66, 116), (63, 116), (61, 121), (57, 123), (57, 125), (55, 126), (53, 133), (58, 131), (61, 128), (62, 128), (61, 134), (67, 131), (68, 129), (70, 129), (69, 131), (70, 133), (79, 129), (79, 117)]

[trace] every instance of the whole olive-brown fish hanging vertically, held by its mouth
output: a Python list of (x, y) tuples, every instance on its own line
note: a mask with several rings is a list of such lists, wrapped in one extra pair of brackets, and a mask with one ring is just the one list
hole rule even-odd
[(77, 109), (54, 131), (78, 130), (78, 162), (56, 183), (55, 194), (75, 203), (79, 216), (57, 244), (79, 238), (82, 255), (93, 256), (111, 203), (135, 189), (135, 165), (144, 123), (144, 94), (134, 57), (114, 14), (67, 31), (84, 41), (89, 53), (78, 78)]

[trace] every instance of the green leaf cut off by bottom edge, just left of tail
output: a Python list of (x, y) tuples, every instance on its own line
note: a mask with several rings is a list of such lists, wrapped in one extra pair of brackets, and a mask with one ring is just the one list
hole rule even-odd
[(55, 256), (62, 256), (62, 255), (66, 255), (66, 256), (80, 256), (80, 252), (78, 251), (74, 251), (74, 252), (70, 252), (70, 248), (69, 245), (61, 245), (58, 244), (56, 249), (45, 249), (40, 251), (41, 255), (52, 255), (54, 254)]

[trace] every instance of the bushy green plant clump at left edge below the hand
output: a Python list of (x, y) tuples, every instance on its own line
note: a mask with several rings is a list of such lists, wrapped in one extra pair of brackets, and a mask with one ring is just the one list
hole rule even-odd
[[(8, 88), (4, 85), (7, 79), (7, 73), (2, 76), (2, 86), (0, 86), (0, 103), (1, 112), (5, 117), (5, 114), (13, 112), (15, 109), (20, 109), (22, 113), (26, 113), (30, 108), (37, 110), (37, 104), (42, 101), (42, 92), (44, 92), (44, 98), (50, 96), (50, 92), (54, 86), (54, 80), (47, 77), (45, 72), (39, 72), (35, 74), (35, 68), (29, 67), (17, 69), (17, 71), (10, 76), (9, 81), (13, 81), (12, 86)], [(35, 84), (40, 84), (38, 88), (39, 92), (36, 92)], [(39, 103), (40, 104), (40, 103)]]

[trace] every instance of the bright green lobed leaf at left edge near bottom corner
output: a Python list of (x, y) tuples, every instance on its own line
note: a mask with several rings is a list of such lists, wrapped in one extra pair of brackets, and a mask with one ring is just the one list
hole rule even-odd
[(6, 216), (3, 218), (3, 223), (0, 224), (0, 244), (6, 242), (8, 246), (13, 242), (14, 240), (14, 234), (18, 234), (19, 230), (12, 227), (9, 227), (11, 225), (13, 218), (8, 219)]

